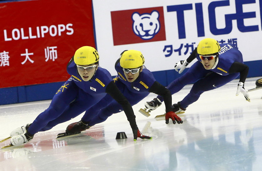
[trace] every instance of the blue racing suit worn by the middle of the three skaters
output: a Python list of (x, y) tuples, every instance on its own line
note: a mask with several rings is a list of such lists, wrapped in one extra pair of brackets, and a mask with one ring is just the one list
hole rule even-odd
[[(143, 98), (147, 97), (150, 92), (152, 92), (162, 95), (165, 98), (167, 111), (172, 111), (172, 97), (170, 92), (167, 88), (158, 83), (153, 74), (144, 66), (142, 72), (139, 73), (138, 78), (133, 82), (128, 82), (126, 80), (119, 59), (115, 64), (115, 70), (118, 75), (114, 78), (114, 82), (132, 106), (140, 102)], [(112, 97), (106, 95), (99, 103), (85, 112), (82, 120), (90, 122), (89, 125), (93, 126), (105, 121), (113, 113), (118, 113), (122, 110), (122, 107)], [(93, 117), (94, 114), (96, 115)]]

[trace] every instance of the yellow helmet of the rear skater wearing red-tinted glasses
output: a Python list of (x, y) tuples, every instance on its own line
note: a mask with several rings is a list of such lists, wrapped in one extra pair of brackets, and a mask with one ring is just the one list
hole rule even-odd
[(206, 38), (197, 45), (197, 53), (200, 55), (214, 54), (220, 51), (220, 45), (215, 39)]

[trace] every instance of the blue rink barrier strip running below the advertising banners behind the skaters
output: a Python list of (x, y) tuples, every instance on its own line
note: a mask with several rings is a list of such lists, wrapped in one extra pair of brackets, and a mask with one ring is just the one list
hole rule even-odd
[[(244, 62), (249, 66), (248, 77), (262, 76), (262, 60)], [(187, 68), (178, 74), (174, 69), (166, 71), (153, 72), (156, 80), (164, 86), (167, 86), (174, 79), (186, 73)], [(114, 78), (113, 76), (112, 78)], [(237, 78), (238, 79), (238, 78)], [(50, 100), (55, 95), (56, 91), (64, 82), (45, 83), (29, 86), (19, 86), (10, 88), (0, 88), (0, 105), (33, 102), (40, 100)], [(255, 83), (254, 83), (255, 86)]]

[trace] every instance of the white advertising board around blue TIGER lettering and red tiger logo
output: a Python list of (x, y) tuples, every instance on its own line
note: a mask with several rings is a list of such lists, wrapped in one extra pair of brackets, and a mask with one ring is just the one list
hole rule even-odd
[[(240, 15), (236, 14), (236, 2), (235, 0), (226, 1), (229, 2), (229, 5), (224, 5), (221, 7), (215, 8), (216, 16), (216, 26), (212, 25), (212, 28), (216, 29), (229, 28), (226, 26), (225, 18), (229, 18), (228, 15), (235, 16), (238, 18), (239, 25), (240, 21), (243, 21), (242, 27), (244, 26), (253, 26), (257, 31), (246, 31), (241, 32), (238, 28), (237, 20), (233, 19), (229, 23), (232, 23), (232, 31), (227, 34), (214, 35), (214, 31), (211, 32), (209, 24), (209, 13), (208, 8), (217, 4), (221, 4), (225, 1), (196, 1), (196, 0), (185, 0), (185, 1), (159, 1), (159, 0), (144, 0), (144, 1), (127, 1), (127, 0), (114, 0), (114, 1), (104, 1), (104, 0), (93, 0), (94, 8), (94, 20), (95, 20), (95, 34), (96, 34), (96, 43), (97, 49), (100, 55), (100, 65), (101, 67), (108, 69), (112, 75), (116, 75), (114, 70), (115, 61), (118, 59), (120, 53), (123, 50), (140, 50), (145, 57), (145, 65), (150, 71), (163, 71), (174, 69), (174, 64), (179, 61), (187, 58), (192, 52), (189, 49), (189, 52), (184, 55), (186, 48), (181, 50), (181, 55), (178, 52), (174, 52), (174, 49), (178, 49), (181, 44), (192, 44), (194, 43), (194, 48), (196, 48), (198, 42), (206, 37), (214, 38), (218, 41), (226, 40), (225, 43), (228, 43), (228, 39), (236, 39), (237, 47), (243, 54), (244, 61), (254, 61), (261, 60), (262, 55), (260, 53), (260, 42), (261, 39), (261, 17), (260, 17), (260, 4), (259, 0), (255, 3), (249, 1), (249, 4), (238, 5), (238, 11), (241, 10), (239, 7), (243, 8), (244, 16), (246, 13), (255, 14), (255, 17), (240, 19)], [(260, 0), (262, 3), (262, 1)], [(212, 4), (211, 4), (212, 3)], [(183, 10), (182, 14), (184, 15), (184, 26), (185, 26), (185, 36), (186, 38), (179, 39), (178, 34), (178, 21), (177, 21), (177, 11), (168, 12), (167, 7), (182, 5), (182, 7), (188, 5), (192, 6), (191, 10)], [(203, 25), (204, 36), (199, 36), (197, 32), (197, 22), (201, 23), (200, 19), (196, 19), (196, 5), (202, 7), (203, 12)], [(198, 6), (198, 7), (199, 7)], [(122, 10), (131, 10), (131, 9), (141, 9), (141, 8), (151, 8), (151, 7), (163, 7), (164, 14), (164, 25), (165, 25), (165, 35), (166, 40), (163, 41), (151, 41), (144, 43), (133, 43), (125, 45), (115, 45), (113, 43), (113, 34), (112, 34), (112, 21), (111, 21), (111, 12), (113, 11), (122, 11)], [(199, 13), (199, 12), (198, 12)], [(212, 13), (212, 12), (211, 12)], [(252, 15), (253, 15), (252, 14)], [(226, 15), (226, 17), (225, 17)], [(249, 14), (248, 14), (249, 15)], [(180, 19), (181, 11), (180, 11)], [(121, 25), (119, 26), (121, 27)], [(132, 27), (132, 25), (131, 25)], [(181, 27), (179, 27), (181, 29)], [(247, 30), (250, 28), (247, 28)], [(229, 29), (230, 30), (230, 29)], [(219, 31), (216, 31), (218, 34)], [(119, 33), (121, 34), (121, 33)], [(153, 39), (152, 39), (153, 40)], [(163, 52), (165, 45), (172, 45), (172, 55), (165, 57), (167, 52)], [(191, 65), (189, 65), (190, 67)]]

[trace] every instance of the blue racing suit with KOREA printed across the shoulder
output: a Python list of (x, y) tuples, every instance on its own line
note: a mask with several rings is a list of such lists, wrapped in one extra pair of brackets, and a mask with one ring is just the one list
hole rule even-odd
[[(171, 94), (174, 94), (180, 91), (185, 85), (194, 83), (190, 93), (180, 102), (182, 108), (185, 109), (193, 102), (196, 102), (203, 92), (219, 88), (239, 75), (240, 81), (245, 82), (248, 67), (243, 64), (241, 52), (233, 44), (224, 43), (220, 46), (221, 50), (218, 52), (218, 58), (212, 69), (207, 70), (204, 68), (199, 54), (195, 49), (187, 59), (187, 62), (190, 63), (195, 58), (198, 61), (185, 74), (167, 86)], [(163, 101), (163, 97), (158, 96), (158, 98)]]

